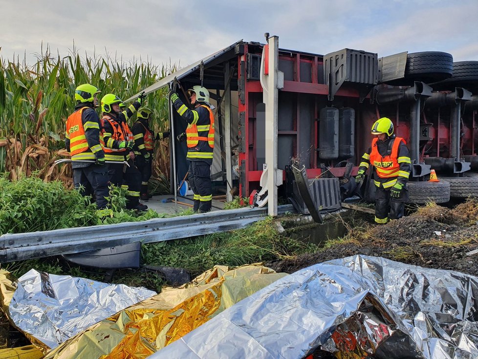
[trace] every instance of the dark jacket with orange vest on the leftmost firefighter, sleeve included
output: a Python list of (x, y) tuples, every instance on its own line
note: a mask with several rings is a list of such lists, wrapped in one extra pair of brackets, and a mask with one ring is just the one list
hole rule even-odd
[[(105, 156), (103, 147), (98, 114), (88, 106), (77, 108), (66, 120), (65, 148), (72, 161), (102, 158)], [(73, 163), (73, 168), (87, 165)]]

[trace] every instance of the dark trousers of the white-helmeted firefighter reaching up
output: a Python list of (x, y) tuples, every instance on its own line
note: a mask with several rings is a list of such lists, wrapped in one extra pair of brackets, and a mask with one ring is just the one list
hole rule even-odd
[(213, 199), (211, 165), (203, 161), (189, 161), (188, 180), (194, 193), (193, 210), (199, 213), (209, 212)]

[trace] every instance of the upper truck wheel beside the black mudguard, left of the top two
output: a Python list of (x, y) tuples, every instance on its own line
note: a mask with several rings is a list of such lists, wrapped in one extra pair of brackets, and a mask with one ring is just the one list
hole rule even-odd
[(407, 55), (407, 79), (429, 83), (447, 79), (452, 74), (453, 56), (447, 52), (427, 51)]

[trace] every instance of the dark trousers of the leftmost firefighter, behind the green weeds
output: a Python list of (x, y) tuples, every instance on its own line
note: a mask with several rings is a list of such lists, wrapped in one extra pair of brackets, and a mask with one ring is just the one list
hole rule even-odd
[(98, 209), (108, 207), (108, 170), (105, 165), (92, 164), (73, 169), (73, 184), (82, 196), (94, 194)]

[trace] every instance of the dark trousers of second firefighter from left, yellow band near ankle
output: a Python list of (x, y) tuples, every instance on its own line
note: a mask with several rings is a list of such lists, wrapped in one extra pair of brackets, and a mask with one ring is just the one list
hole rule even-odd
[(136, 207), (139, 203), (141, 174), (134, 166), (132, 160), (129, 160), (128, 163), (130, 164), (130, 167), (124, 165), (123, 162), (118, 164), (107, 163), (107, 166), (109, 182), (111, 184), (114, 184), (116, 187), (121, 187), (122, 185), (128, 186), (128, 192), (126, 194), (126, 208), (131, 209)]

